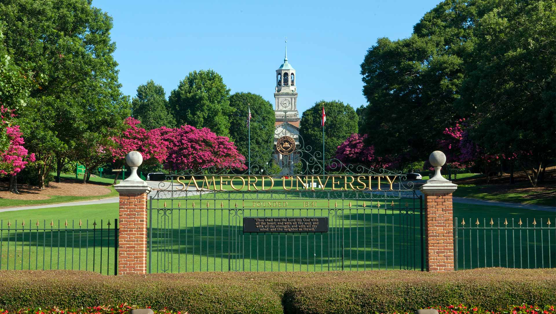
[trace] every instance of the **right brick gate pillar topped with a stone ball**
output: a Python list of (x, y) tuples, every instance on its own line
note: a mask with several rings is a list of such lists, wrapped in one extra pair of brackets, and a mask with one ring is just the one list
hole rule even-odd
[(425, 194), (425, 260), (427, 271), (454, 270), (454, 216), (452, 193), (457, 185), (443, 178), (440, 169), (446, 162), (441, 151), (429, 156), (435, 175), (419, 189)]

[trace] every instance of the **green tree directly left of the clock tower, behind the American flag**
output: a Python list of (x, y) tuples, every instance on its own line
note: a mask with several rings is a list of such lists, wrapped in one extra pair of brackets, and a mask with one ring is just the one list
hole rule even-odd
[(230, 136), (240, 154), (249, 158), (247, 139), (247, 105), (251, 108), (251, 166), (266, 165), (271, 160), (274, 147), (274, 110), (272, 104), (260, 95), (235, 93), (230, 96), (230, 106), (235, 112), (230, 116)]

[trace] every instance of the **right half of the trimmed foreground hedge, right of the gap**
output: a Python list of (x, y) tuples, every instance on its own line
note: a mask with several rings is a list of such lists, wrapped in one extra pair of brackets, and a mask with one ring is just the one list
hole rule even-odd
[(554, 270), (346, 273), (287, 287), (283, 303), (286, 313), (403, 313), (459, 303), (494, 311), (512, 304), (554, 305), (554, 282)]

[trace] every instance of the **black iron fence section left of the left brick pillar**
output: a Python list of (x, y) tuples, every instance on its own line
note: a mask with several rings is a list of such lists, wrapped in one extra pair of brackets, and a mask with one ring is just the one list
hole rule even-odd
[(117, 275), (118, 220), (0, 221), (0, 270), (88, 270)]

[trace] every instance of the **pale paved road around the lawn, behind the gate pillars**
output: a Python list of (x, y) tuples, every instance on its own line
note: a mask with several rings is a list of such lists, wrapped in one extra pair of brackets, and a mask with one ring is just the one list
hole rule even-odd
[[(157, 181), (147, 181), (148, 185), (153, 188), (152, 192), (149, 194), (150, 196), (154, 196), (159, 189), (159, 183)], [(158, 191), (160, 198), (165, 197), (172, 197), (172, 196), (185, 196), (191, 195), (190, 193), (198, 193), (192, 192), (191, 190), (194, 189), (187, 189), (187, 191), (181, 191), (182, 185), (174, 184), (171, 189), (166, 188), (165, 191)], [(420, 193), (420, 192), (419, 192)], [(67, 203), (58, 203), (58, 204), (49, 204), (49, 205), (36, 205), (36, 206), (23, 206), (23, 207), (9, 207), (0, 209), (0, 212), (3, 211), (14, 211), (14, 210), (24, 210), (24, 209), (39, 209), (39, 208), (51, 208), (51, 207), (62, 207), (62, 206), (77, 206), (77, 205), (95, 205), (95, 204), (107, 204), (107, 203), (114, 203), (118, 202), (118, 197), (108, 197), (106, 199), (99, 199), (99, 200), (88, 200), (88, 201), (78, 201), (78, 202), (67, 202)], [(485, 200), (478, 200), (478, 199), (469, 199), (467, 197), (454, 197), (454, 202), (462, 203), (462, 204), (473, 204), (473, 205), (486, 205), (486, 206), (502, 206), (502, 207), (513, 207), (513, 208), (522, 208), (522, 209), (532, 209), (532, 210), (543, 210), (543, 211), (553, 211), (556, 212), (556, 207), (554, 206), (543, 206), (543, 205), (532, 205), (532, 204), (519, 204), (519, 203), (510, 203), (510, 202), (497, 202), (497, 201), (485, 201)]]

